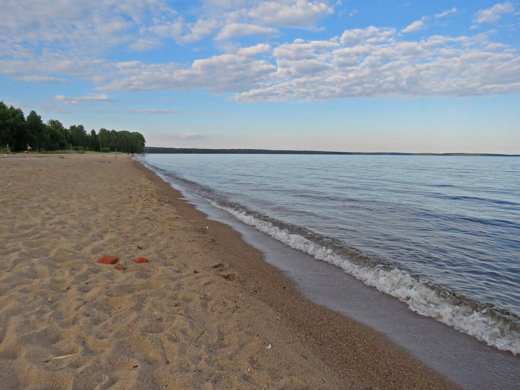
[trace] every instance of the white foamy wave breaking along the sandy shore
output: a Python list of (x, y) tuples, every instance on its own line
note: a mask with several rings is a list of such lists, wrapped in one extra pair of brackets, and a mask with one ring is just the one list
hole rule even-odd
[[(146, 165), (157, 172), (157, 167)], [(195, 189), (191, 186), (194, 183), (188, 180), (162, 172), (158, 174), (166, 181), (175, 178)], [(355, 250), (341, 250), (332, 242), (331, 245), (321, 245), (319, 242), (324, 240), (306, 238), (304, 235), (311, 235), (293, 232), (295, 229), (288, 225), (279, 224), (272, 218), (255, 214), (236, 204), (212, 199), (209, 193), (199, 191), (202, 188), (200, 185), (196, 187), (197, 190), (188, 192), (291, 248), (333, 264), (370, 287), (396, 297), (415, 313), (432, 317), (497, 349), (520, 354), (520, 318), (515, 314), (434, 285), (394, 265), (382, 264), (379, 260), (367, 261), (366, 256), (360, 256)]]

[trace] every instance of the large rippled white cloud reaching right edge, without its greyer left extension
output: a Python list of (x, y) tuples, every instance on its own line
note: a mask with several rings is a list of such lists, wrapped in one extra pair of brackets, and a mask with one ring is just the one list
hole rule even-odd
[(319, 42), (276, 47), (273, 54), (278, 69), (269, 82), (237, 93), (233, 99), (258, 102), (520, 92), (520, 57), (486, 42), (482, 35), (431, 36), (421, 41), (387, 36), (379, 43), (359, 40), (360, 35), (348, 30), (340, 47), (326, 50), (309, 49), (315, 43), (323, 47)]

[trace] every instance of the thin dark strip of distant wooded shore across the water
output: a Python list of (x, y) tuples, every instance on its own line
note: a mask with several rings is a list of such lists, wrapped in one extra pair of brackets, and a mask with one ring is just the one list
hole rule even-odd
[(269, 150), (269, 149), (198, 149), (198, 148), (161, 148), (145, 146), (149, 154), (364, 154), (364, 155), (440, 155), (440, 156), (479, 156), (479, 157), (520, 157), (520, 154), (499, 153), (393, 153), (393, 152), (328, 152), (317, 150)]

